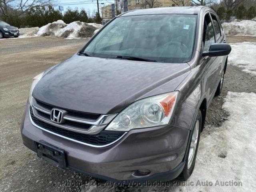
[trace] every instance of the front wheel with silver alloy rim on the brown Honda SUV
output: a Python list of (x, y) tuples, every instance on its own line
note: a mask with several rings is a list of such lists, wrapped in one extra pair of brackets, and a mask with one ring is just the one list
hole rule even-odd
[(186, 154), (186, 164), (181, 172), (181, 174), (178, 176), (178, 180), (186, 181), (192, 174), (195, 164), (196, 164), (196, 154), (200, 139), (200, 133), (202, 128), (202, 113), (199, 110), (196, 120), (193, 125), (192, 134), (190, 136), (189, 140), (189, 148), (188, 152)]

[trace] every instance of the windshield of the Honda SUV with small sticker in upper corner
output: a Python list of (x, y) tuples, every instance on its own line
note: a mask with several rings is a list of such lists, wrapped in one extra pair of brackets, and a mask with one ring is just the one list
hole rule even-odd
[(93, 57), (141, 57), (158, 62), (190, 60), (196, 15), (159, 14), (114, 19), (81, 53)]

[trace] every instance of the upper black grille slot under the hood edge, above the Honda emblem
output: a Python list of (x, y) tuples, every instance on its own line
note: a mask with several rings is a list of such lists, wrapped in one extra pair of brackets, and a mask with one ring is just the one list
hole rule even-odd
[[(47, 108), (49, 110), (52, 110), (52, 108), (54, 108), (54, 107), (58, 108), (57, 106), (47, 104), (47, 103), (42, 102), (42, 101), (37, 100), (37, 99), (36, 99), (36, 103), (39, 106), (42, 106), (42, 107)], [(87, 118), (87, 119), (90, 119), (90, 120), (97, 120), (100, 117), (100, 114), (80, 112), (80, 111), (75, 111), (75, 110), (70, 110), (70, 109), (65, 109), (65, 108), (62, 108), (62, 109), (66, 110), (69, 115), (77, 116), (77, 117), (83, 117), (83, 118)]]

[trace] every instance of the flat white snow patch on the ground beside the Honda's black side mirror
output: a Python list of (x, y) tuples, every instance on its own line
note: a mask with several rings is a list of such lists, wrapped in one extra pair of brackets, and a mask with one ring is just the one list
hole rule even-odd
[(230, 44), (232, 51), (228, 55), (228, 64), (243, 68), (242, 71), (256, 75), (256, 43), (243, 42)]

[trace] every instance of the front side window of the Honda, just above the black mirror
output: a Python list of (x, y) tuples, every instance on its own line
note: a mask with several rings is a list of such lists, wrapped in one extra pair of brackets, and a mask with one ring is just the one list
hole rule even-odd
[(214, 30), (209, 14), (204, 18), (204, 36), (203, 36), (204, 48), (203, 51), (208, 51), (210, 45), (215, 43)]

